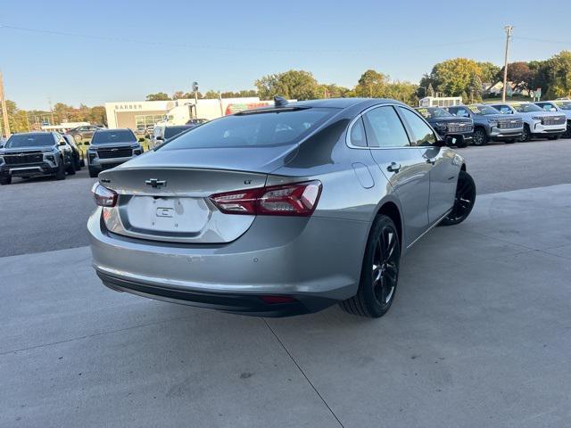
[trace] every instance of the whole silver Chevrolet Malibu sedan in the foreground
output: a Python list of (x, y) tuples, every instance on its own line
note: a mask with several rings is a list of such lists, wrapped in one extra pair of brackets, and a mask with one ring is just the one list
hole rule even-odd
[(401, 257), (474, 205), (444, 143), (392, 100), (277, 97), (212, 120), (99, 175), (95, 271), (118, 292), (244, 315), (381, 317)]

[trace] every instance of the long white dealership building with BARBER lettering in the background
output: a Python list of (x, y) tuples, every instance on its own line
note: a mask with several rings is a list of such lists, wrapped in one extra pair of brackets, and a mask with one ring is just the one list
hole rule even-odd
[(105, 103), (107, 126), (109, 128), (146, 128), (165, 118), (169, 111), (187, 106), (191, 117), (198, 119), (216, 119), (220, 116), (248, 110), (270, 102), (260, 101), (258, 97), (222, 98), (213, 100), (181, 99), (169, 101), (123, 101)]

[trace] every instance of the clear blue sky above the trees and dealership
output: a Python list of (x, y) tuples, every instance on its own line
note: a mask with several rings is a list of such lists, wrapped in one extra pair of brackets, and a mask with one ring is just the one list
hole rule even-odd
[(290, 69), (343, 86), (368, 69), (418, 82), (457, 56), (501, 64), (507, 23), (511, 61), (571, 49), (568, 13), (545, 14), (537, 0), (2, 3), (0, 25), (21, 29), (0, 28), (0, 69), (7, 98), (25, 109), (46, 108), (48, 98), (142, 100), (188, 91), (194, 80), (203, 92), (252, 88)]

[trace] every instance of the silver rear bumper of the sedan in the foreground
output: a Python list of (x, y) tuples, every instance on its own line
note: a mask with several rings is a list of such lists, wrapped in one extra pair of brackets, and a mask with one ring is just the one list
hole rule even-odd
[[(357, 292), (370, 225), (335, 218), (258, 217), (232, 243), (160, 243), (89, 218), (93, 265), (112, 289), (246, 315), (315, 312)], [(268, 304), (261, 296), (289, 296)]]

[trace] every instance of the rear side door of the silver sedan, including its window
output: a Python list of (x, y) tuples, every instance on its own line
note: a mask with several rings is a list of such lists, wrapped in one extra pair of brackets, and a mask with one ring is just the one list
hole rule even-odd
[(402, 121), (392, 105), (377, 106), (363, 113), (368, 146), (378, 168), (401, 202), (403, 245), (409, 246), (428, 226), (429, 171), (417, 147), (410, 144)]

